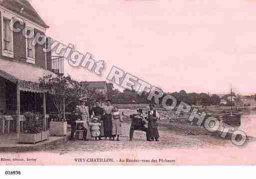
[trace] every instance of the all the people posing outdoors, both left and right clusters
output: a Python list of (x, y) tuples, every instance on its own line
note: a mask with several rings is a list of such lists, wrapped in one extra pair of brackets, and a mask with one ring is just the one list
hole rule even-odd
[[(114, 107), (110, 100), (106, 101), (106, 105), (100, 107), (100, 102), (96, 101), (95, 107), (90, 111), (86, 106), (86, 98), (80, 99), (80, 105), (76, 106), (75, 110), (71, 115), (71, 135), (70, 140), (74, 139), (75, 131), (83, 131), (83, 139), (85, 141), (91, 140), (105, 140), (109, 139), (114, 141), (120, 140), (122, 133), (123, 122), (122, 114), (119, 112), (118, 107)], [(158, 141), (158, 123), (157, 120), (160, 118), (156, 110), (153, 110), (154, 106), (150, 104), (150, 111), (147, 113), (147, 117), (143, 116), (142, 109), (137, 110), (137, 114), (131, 115), (132, 124), (130, 127), (130, 141), (133, 138), (134, 130), (141, 130), (146, 132), (147, 141)], [(144, 125), (145, 120), (148, 120), (148, 128)], [(82, 126), (77, 126), (77, 121), (83, 121)]]

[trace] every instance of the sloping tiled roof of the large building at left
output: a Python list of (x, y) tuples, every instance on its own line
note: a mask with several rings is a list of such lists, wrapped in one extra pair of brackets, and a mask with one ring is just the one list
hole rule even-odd
[(27, 0), (0, 0), (0, 5), (43, 26), (44, 28), (49, 27)]

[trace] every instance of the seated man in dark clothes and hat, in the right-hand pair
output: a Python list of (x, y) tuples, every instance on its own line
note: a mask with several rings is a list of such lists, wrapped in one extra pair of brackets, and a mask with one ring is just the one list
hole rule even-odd
[[(130, 115), (130, 118), (132, 119), (132, 124), (130, 127), (130, 141), (132, 141), (133, 132), (134, 130), (138, 131), (144, 131), (147, 134), (148, 129), (144, 126), (146, 122), (144, 121), (143, 112), (142, 109), (137, 109), (137, 114)], [(149, 140), (148, 136), (147, 141)]]

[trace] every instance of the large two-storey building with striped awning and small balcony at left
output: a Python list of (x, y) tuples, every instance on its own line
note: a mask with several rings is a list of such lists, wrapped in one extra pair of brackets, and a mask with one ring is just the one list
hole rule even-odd
[(45, 35), (47, 28), (27, 0), (0, 1), (0, 113), (17, 116), (18, 133), (24, 112), (40, 112), (45, 120), (47, 90), (39, 78), (56, 75), (52, 71), (63, 73), (62, 57), (43, 50), (48, 40), (45, 36), (40, 39), (45, 43), (32, 43), (37, 34)]

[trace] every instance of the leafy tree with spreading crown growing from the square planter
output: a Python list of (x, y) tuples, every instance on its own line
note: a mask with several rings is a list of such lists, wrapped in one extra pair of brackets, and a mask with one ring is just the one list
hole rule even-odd
[(57, 110), (57, 118), (63, 122), (66, 120), (65, 108), (68, 105), (78, 101), (82, 96), (90, 96), (84, 85), (69, 76), (45, 75), (40, 78), (40, 84), (50, 91), (49, 97)]

